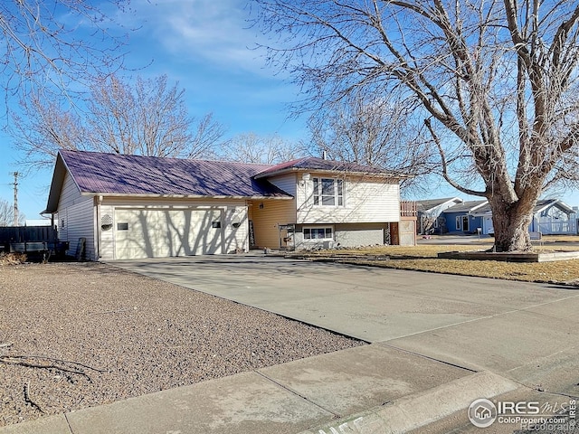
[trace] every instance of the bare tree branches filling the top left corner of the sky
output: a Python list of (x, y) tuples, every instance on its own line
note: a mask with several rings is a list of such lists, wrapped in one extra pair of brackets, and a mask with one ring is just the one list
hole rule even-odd
[(122, 67), (128, 30), (115, 22), (128, 0), (17, 0), (0, 2), (0, 71), (5, 98), (31, 90), (70, 95)]

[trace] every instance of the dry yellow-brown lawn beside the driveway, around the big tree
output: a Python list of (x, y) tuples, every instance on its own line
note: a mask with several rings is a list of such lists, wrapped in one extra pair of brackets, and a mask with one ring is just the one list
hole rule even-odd
[[(505, 278), (530, 282), (558, 282), (579, 285), (579, 259), (540, 263), (514, 263), (498, 260), (462, 260), (438, 259), (437, 254), (443, 251), (488, 250), (488, 242), (471, 245), (419, 245), (414, 247), (380, 246), (353, 250), (320, 250), (308, 256), (334, 256), (348, 263), (372, 265), (390, 269), (413, 269), (434, 273), (478, 276), (483, 278)], [(544, 244), (536, 250), (579, 250), (576, 246)], [(344, 258), (351, 255), (352, 259)], [(368, 259), (363, 257), (368, 256)], [(373, 256), (389, 256), (390, 260), (372, 259)]]

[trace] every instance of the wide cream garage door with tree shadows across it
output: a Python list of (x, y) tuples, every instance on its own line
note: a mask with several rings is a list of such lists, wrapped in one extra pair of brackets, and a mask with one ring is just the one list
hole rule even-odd
[(115, 212), (115, 258), (166, 258), (222, 252), (221, 210)]

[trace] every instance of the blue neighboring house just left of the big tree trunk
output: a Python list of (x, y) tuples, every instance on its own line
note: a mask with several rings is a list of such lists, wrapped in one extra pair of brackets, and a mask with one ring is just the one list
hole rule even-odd
[(489, 201), (465, 201), (442, 212), (442, 222), (449, 233), (492, 232), (492, 216), (487, 214)]

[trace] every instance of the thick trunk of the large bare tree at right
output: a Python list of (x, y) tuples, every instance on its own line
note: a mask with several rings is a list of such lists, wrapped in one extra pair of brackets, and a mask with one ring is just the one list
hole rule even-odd
[(528, 226), (533, 218), (532, 212), (535, 202), (525, 198), (505, 205), (500, 196), (489, 199), (493, 229), (495, 230), (494, 250), (528, 251), (533, 249)]

